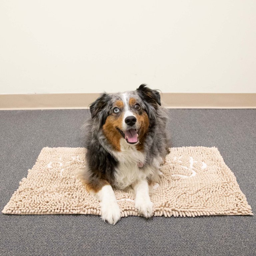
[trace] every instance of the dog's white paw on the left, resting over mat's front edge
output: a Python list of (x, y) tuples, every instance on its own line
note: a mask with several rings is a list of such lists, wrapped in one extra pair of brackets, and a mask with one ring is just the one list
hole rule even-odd
[(121, 218), (117, 202), (101, 202), (101, 218), (109, 224), (115, 225)]

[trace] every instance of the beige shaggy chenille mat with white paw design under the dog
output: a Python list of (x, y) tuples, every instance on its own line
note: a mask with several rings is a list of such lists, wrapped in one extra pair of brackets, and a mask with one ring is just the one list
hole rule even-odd
[[(43, 148), (3, 213), (100, 214), (99, 202), (77, 178), (84, 148)], [(253, 215), (217, 148), (171, 148), (152, 186), (154, 216)], [(134, 193), (115, 190), (122, 216), (139, 215)]]

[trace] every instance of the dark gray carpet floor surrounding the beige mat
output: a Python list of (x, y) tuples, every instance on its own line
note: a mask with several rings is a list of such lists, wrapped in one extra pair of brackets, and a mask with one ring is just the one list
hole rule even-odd
[[(43, 147), (82, 147), (88, 110), (0, 111), (0, 209)], [(256, 211), (256, 110), (169, 110), (172, 146), (218, 147)], [(0, 213), (0, 255), (256, 255), (255, 216), (122, 218)]]

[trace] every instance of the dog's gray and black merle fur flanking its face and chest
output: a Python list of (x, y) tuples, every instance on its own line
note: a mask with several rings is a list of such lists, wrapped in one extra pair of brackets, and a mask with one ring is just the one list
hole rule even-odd
[[(145, 84), (140, 85), (135, 91), (126, 93), (137, 100), (149, 117), (149, 128), (144, 140), (146, 157), (143, 168), (147, 168), (155, 158), (164, 159), (167, 154), (169, 147), (169, 136), (166, 132), (167, 110), (161, 107), (159, 92), (149, 89)], [(83, 178), (94, 185), (99, 184), (102, 179), (115, 185), (114, 172), (118, 167), (118, 160), (112, 154), (113, 148), (108, 143), (102, 127), (108, 115), (113, 112), (113, 104), (116, 100), (122, 100), (122, 93), (103, 93), (91, 104), (91, 118), (88, 118), (83, 125), (87, 149), (87, 169)]]

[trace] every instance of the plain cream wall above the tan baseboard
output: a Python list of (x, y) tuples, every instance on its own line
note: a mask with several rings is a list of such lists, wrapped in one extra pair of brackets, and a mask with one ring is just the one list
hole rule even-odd
[(256, 92), (256, 1), (0, 1), (0, 94)]

